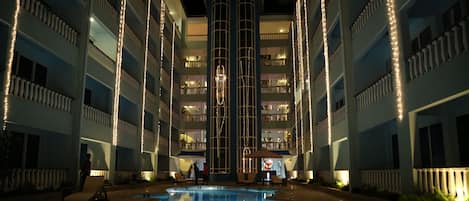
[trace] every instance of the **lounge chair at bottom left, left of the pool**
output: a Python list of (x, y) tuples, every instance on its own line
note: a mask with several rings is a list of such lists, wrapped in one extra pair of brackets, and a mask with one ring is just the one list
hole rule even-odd
[(107, 193), (104, 190), (104, 177), (103, 176), (88, 176), (86, 177), (83, 191), (72, 193), (64, 198), (65, 201), (88, 201), (93, 198), (100, 198), (107, 200)]

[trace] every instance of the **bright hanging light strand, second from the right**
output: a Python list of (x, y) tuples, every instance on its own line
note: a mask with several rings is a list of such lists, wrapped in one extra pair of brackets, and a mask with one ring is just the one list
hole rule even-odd
[(331, 111), (331, 89), (329, 80), (329, 44), (327, 43), (327, 16), (326, 0), (321, 0), (321, 23), (322, 23), (322, 42), (324, 46), (324, 72), (326, 76), (326, 99), (327, 99), (327, 142), (329, 146), (332, 141), (332, 111)]

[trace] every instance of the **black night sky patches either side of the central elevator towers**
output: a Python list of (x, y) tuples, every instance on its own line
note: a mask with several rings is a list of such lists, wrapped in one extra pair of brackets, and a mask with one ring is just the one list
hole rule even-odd
[[(188, 17), (207, 15), (204, 0), (182, 0), (182, 3)], [(294, 0), (264, 0), (265, 15), (292, 15), (294, 7)]]

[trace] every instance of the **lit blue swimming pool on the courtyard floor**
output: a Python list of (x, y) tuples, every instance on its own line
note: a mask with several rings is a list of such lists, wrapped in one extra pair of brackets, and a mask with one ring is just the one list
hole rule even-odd
[(145, 195), (161, 201), (268, 201), (274, 195), (272, 189), (249, 189), (224, 186), (191, 186), (166, 189), (167, 193)]

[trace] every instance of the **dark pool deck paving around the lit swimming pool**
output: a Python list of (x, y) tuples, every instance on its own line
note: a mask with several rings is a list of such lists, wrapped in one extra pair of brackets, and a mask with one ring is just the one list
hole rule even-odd
[[(245, 188), (268, 188), (276, 189), (274, 197), (271, 200), (299, 200), (299, 201), (384, 201), (379, 198), (366, 197), (359, 194), (337, 191), (324, 187), (305, 185), (300, 183), (289, 183), (287, 185), (239, 185), (236, 183), (211, 183), (209, 185), (236, 186)], [(157, 200), (150, 198), (137, 197), (142, 194), (158, 194), (165, 193), (170, 187), (194, 186), (194, 184), (174, 184), (169, 182), (148, 185), (133, 186), (114, 186), (108, 190), (108, 198), (110, 201), (149, 201)], [(0, 197), (1, 198), (1, 197)], [(61, 200), (61, 193), (42, 193), (35, 195), (24, 195), (1, 198), (4, 201), (26, 201), (26, 200)]]

